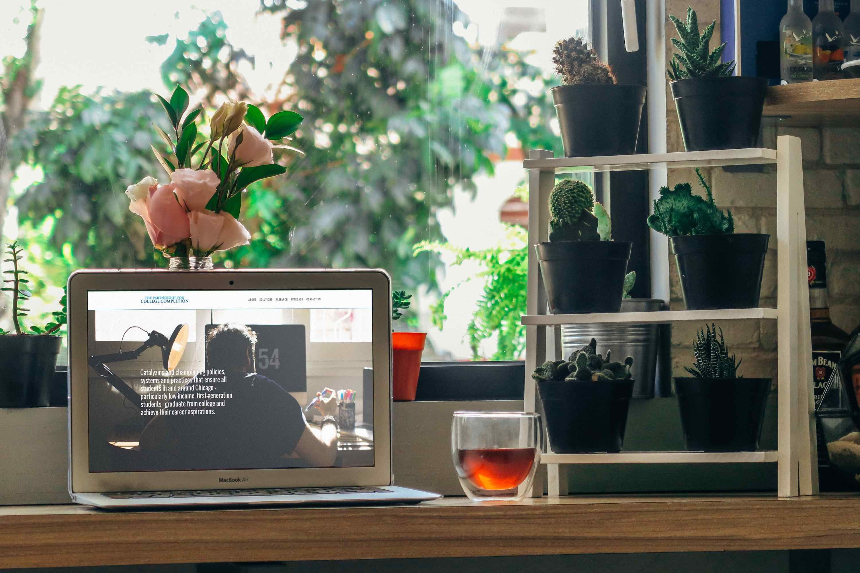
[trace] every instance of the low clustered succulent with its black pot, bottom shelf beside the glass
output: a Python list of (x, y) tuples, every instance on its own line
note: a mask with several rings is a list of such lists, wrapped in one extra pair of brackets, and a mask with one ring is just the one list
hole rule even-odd
[(556, 454), (621, 451), (633, 392), (633, 358), (612, 362), (611, 351), (604, 358), (596, 349), (592, 338), (568, 360), (544, 363), (531, 374)]

